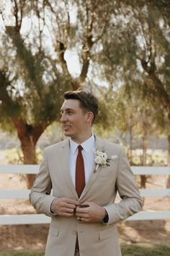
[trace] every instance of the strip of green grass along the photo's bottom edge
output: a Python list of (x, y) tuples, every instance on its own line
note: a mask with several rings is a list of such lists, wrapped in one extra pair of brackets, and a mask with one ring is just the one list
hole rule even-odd
[[(170, 256), (169, 244), (121, 244), (122, 256)], [(0, 252), (0, 256), (44, 256), (43, 251)]]

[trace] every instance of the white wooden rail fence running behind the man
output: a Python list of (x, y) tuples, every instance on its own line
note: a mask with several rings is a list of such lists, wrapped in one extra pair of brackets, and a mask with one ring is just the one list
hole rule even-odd
[[(37, 165), (0, 165), (0, 174), (37, 174)], [(136, 175), (170, 175), (170, 167), (132, 166)], [(1, 182), (1, 181), (0, 181)], [(27, 199), (29, 189), (0, 190), (1, 199)], [(170, 189), (140, 189), (142, 197), (170, 197)], [(1, 205), (0, 205), (1, 207)], [(127, 220), (170, 219), (170, 210), (140, 211)], [(50, 217), (43, 214), (0, 215), (0, 225), (50, 223)]]

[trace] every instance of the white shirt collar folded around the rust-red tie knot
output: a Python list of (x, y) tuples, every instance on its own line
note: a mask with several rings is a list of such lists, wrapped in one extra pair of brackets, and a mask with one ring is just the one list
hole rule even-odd
[[(84, 149), (84, 151), (88, 152), (89, 150), (91, 150), (91, 148), (94, 147), (94, 141), (95, 141), (95, 137), (94, 137), (94, 134), (92, 134), (88, 140), (85, 140), (83, 143), (81, 143), (81, 146)], [(70, 138), (70, 148), (71, 148), (72, 153), (76, 152), (76, 149), (78, 146), (79, 146), (79, 144), (74, 142)]]

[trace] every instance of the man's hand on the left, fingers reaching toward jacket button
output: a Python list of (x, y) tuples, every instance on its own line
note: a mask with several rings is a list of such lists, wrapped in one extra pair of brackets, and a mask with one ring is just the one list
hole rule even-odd
[(80, 205), (80, 203), (73, 199), (66, 197), (55, 198), (50, 206), (50, 210), (53, 213), (57, 213), (58, 216), (71, 217), (74, 214), (74, 209), (76, 209), (78, 205)]

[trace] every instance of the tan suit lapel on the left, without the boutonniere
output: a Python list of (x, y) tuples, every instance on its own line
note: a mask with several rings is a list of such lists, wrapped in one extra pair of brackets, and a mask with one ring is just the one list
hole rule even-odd
[(73, 186), (73, 182), (71, 180), (70, 174), (70, 166), (69, 166), (69, 139), (63, 141), (63, 145), (61, 148), (61, 168), (64, 179), (68, 184), (68, 187), (71, 189), (71, 192), (76, 199), (78, 199), (78, 195), (76, 193), (76, 189)]

